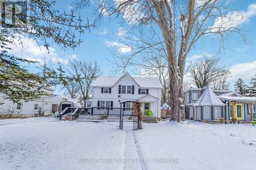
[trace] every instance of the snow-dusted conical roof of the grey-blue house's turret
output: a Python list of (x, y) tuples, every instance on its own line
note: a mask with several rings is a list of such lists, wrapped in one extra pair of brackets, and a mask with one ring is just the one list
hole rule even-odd
[(200, 96), (198, 101), (194, 106), (224, 106), (225, 104), (221, 102), (218, 96), (212, 91), (212, 89), (207, 88), (204, 93)]

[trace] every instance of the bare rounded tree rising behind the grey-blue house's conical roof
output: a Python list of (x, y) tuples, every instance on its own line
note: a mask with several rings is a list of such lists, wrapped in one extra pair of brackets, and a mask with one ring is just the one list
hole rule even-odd
[(220, 65), (220, 58), (203, 57), (195, 62), (188, 77), (198, 88), (212, 87), (215, 90), (226, 90), (229, 87), (227, 79), (230, 75), (228, 66)]

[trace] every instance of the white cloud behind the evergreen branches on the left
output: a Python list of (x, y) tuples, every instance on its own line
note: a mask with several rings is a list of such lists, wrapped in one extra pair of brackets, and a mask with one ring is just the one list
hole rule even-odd
[(27, 37), (22, 37), (22, 41), (24, 42), (23, 46), (19, 44), (18, 39), (14, 39), (16, 45), (9, 44), (8, 47), (12, 48), (12, 50), (9, 50), (8, 52), (17, 57), (37, 61), (40, 63), (44, 62), (44, 59), (46, 59), (46, 61), (51, 60), (53, 63), (60, 61), (63, 64), (67, 64), (69, 59), (76, 57), (75, 55), (72, 55), (66, 58), (61, 58), (58, 56), (55, 48), (53, 47), (49, 47), (50, 53), (48, 53), (45, 46), (39, 46), (36, 41), (32, 41)]

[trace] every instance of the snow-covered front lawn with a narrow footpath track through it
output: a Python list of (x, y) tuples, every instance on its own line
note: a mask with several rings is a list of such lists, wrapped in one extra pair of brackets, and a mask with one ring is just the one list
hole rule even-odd
[(256, 127), (189, 123), (145, 124), (132, 131), (127, 122), (119, 130), (118, 122), (0, 120), (0, 169), (255, 168)]

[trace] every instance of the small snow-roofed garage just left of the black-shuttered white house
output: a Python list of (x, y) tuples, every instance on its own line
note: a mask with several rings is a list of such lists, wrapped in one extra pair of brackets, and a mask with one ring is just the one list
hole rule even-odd
[(54, 110), (61, 112), (66, 107), (78, 108), (81, 107), (81, 104), (78, 102), (77, 99), (64, 98), (60, 94), (53, 96), (52, 112)]

